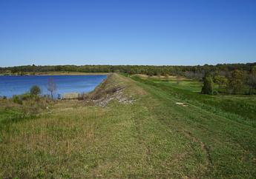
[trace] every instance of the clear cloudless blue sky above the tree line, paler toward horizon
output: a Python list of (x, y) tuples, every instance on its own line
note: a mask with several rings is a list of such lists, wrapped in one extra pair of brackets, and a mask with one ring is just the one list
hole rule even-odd
[(256, 0), (0, 0), (0, 66), (256, 61)]

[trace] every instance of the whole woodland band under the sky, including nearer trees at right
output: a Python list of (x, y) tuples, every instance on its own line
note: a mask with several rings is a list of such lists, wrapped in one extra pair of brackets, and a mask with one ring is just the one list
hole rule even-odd
[[(27, 72), (122, 72), (130, 75), (177, 75), (200, 81), (214, 82), (218, 92), (229, 94), (254, 94), (256, 89), (256, 62), (247, 64), (217, 64), (197, 66), (151, 66), (151, 65), (55, 65), (0, 67), (0, 73), (24, 75)], [(211, 87), (206, 87), (211, 89)], [(203, 92), (207, 93), (207, 92)]]

